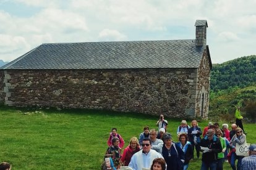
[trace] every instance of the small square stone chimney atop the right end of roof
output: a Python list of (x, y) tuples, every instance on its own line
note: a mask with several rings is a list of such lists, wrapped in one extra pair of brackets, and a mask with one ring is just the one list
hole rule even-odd
[(195, 46), (206, 45), (207, 27), (207, 20), (195, 21)]

